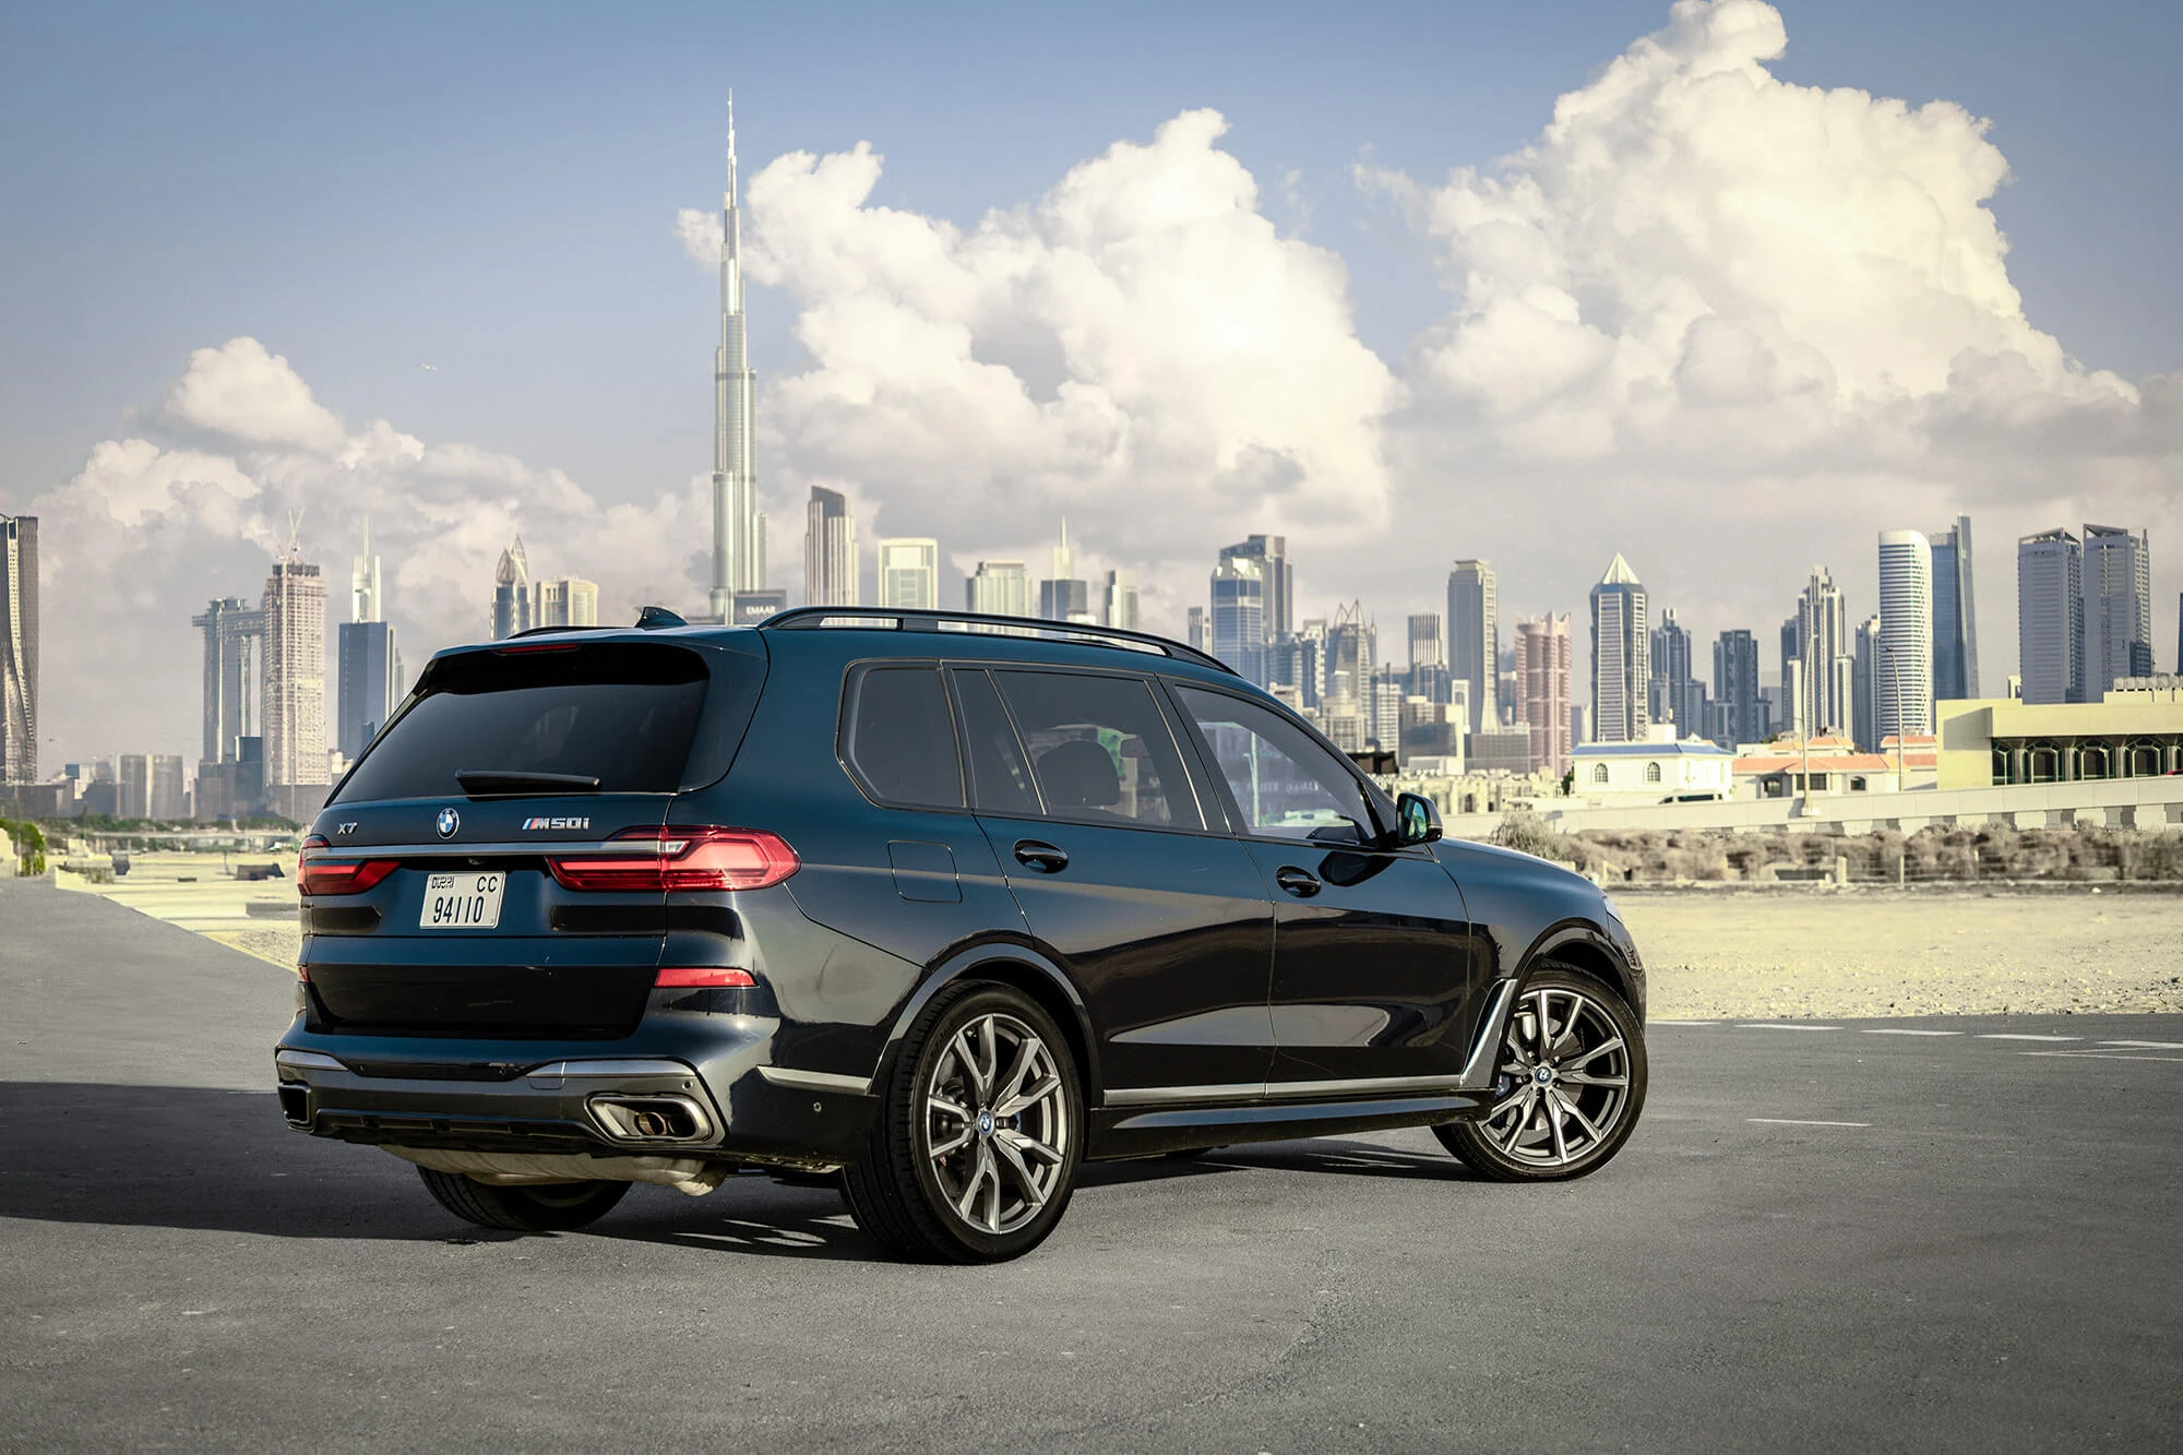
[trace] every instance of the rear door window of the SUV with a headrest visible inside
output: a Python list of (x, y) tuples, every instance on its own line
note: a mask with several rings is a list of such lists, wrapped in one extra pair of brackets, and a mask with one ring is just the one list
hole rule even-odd
[(1168, 719), (1142, 677), (993, 673), (1057, 819), (1203, 828)]

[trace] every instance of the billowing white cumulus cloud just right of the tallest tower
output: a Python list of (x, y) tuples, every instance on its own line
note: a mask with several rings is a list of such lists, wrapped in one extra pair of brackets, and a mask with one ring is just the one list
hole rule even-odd
[[(969, 229), (873, 205), (869, 146), (760, 170), (749, 271), (795, 299), (810, 356), (760, 411), (779, 487), (864, 481), (873, 529), (963, 564), (1067, 516), (1155, 581), (1251, 529), (1384, 529), (1399, 387), (1340, 258), (1279, 236), (1225, 129), (1188, 111)], [(709, 260), (705, 223), (681, 236)]]

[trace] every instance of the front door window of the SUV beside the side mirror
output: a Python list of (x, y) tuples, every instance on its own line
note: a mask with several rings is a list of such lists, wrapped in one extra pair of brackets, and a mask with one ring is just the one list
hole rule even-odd
[(1246, 832), (1316, 843), (1373, 837), (1364, 789), (1301, 728), (1227, 693), (1177, 686), (1174, 695), (1214, 749)]

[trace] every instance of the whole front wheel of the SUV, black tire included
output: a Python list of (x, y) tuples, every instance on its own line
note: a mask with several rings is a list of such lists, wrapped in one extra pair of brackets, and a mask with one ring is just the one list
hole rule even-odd
[(1644, 1027), (1620, 994), (1574, 966), (1546, 961), (1524, 981), (1493, 1064), (1493, 1108), (1432, 1129), (1482, 1178), (1583, 1178), (1637, 1129)]

